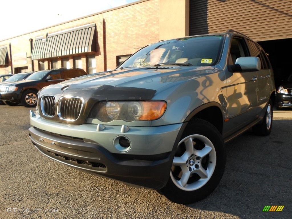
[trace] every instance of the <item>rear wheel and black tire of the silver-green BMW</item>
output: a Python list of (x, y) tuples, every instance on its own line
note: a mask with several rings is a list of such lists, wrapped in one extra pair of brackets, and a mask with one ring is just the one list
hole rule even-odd
[(258, 124), (253, 126), (253, 133), (260, 136), (270, 135), (272, 131), (272, 125), (273, 125), (273, 105), (272, 101), (269, 100), (265, 116)]

